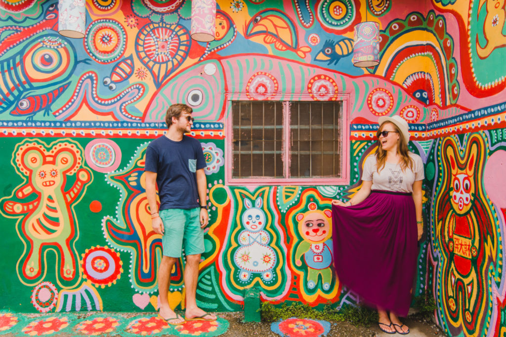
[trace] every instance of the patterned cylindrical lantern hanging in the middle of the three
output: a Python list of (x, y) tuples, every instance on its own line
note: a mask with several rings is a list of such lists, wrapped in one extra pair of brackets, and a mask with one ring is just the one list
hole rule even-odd
[(191, 38), (209, 42), (215, 39), (216, 0), (192, 0)]

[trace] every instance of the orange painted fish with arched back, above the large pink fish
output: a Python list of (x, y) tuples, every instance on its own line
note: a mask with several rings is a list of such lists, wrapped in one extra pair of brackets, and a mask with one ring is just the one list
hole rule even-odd
[(311, 52), (308, 46), (299, 47), (297, 29), (291, 19), (285, 13), (274, 9), (258, 12), (252, 17), (244, 36), (264, 36), (264, 43), (274, 44), (274, 48), (280, 51), (292, 51), (301, 58)]

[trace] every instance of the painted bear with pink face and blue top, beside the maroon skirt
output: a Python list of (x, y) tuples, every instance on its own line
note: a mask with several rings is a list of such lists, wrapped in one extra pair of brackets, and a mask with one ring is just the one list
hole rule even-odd
[[(316, 204), (314, 202), (310, 203)], [(314, 208), (314, 207), (313, 207)], [(296, 217), (299, 222), (299, 233), (303, 237), (295, 253), (295, 264), (302, 266), (301, 257), (308, 266), (307, 286), (313, 289), (318, 283), (318, 276), (321, 276), (323, 290), (328, 290), (332, 282), (332, 234), (329, 220), (331, 212), (325, 210), (310, 210), (306, 213), (299, 213)]]

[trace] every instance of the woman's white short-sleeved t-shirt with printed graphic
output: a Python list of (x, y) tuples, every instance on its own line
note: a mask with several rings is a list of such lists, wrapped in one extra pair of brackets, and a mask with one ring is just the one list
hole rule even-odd
[(424, 179), (424, 162), (417, 154), (409, 152), (413, 159), (412, 171), (407, 167), (402, 171), (400, 164), (385, 162), (379, 173), (376, 171), (376, 155), (372, 154), (365, 159), (363, 181), (371, 181), (371, 190), (413, 192), (413, 183)]

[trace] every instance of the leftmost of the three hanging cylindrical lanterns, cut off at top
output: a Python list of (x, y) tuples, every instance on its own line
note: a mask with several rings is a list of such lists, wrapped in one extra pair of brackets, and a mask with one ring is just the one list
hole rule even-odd
[(66, 37), (83, 38), (86, 31), (86, 1), (58, 1), (58, 32)]

